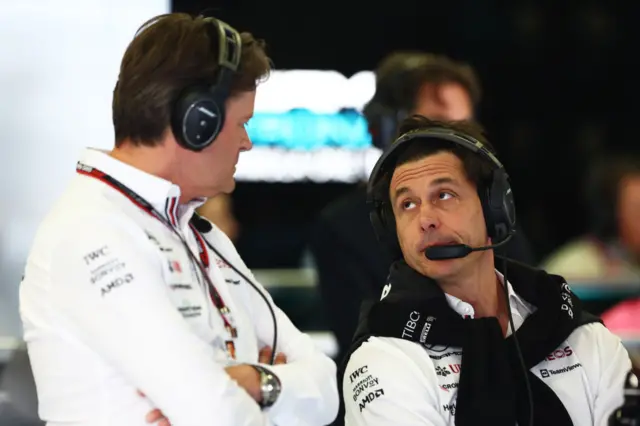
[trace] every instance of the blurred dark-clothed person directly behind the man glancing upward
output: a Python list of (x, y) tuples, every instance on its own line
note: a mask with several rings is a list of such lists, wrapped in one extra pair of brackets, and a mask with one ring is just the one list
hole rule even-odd
[[(446, 56), (401, 51), (381, 61), (376, 70), (376, 92), (364, 115), (373, 144), (384, 150), (396, 137), (399, 122), (408, 115), (469, 120), (480, 100), (480, 82), (471, 66)], [(535, 263), (520, 230), (507, 248), (509, 257)], [(364, 183), (322, 211), (312, 228), (309, 249), (340, 360), (351, 344), (360, 303), (377, 297), (392, 262), (371, 228)]]

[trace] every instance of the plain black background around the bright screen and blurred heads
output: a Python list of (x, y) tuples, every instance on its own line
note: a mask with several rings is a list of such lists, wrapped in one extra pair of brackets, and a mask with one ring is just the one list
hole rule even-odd
[[(395, 49), (471, 63), (479, 118), (512, 177), (539, 258), (588, 226), (583, 179), (605, 150), (636, 149), (640, 3), (593, 0), (293, 2), (174, 0), (264, 38), (279, 69), (372, 70)], [(240, 182), (249, 267), (296, 267), (318, 211), (344, 184)]]

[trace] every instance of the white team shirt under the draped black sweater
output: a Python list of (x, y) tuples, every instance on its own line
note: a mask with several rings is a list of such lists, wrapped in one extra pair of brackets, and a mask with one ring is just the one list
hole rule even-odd
[[(517, 330), (535, 307), (520, 298), (510, 283), (507, 286)], [(473, 317), (470, 304), (451, 295), (446, 298), (461, 316)], [(461, 348), (425, 349), (399, 338), (369, 338), (353, 352), (345, 369), (345, 424), (455, 425), (461, 361)], [(623, 403), (623, 384), (630, 369), (620, 339), (592, 323), (576, 329), (530, 371), (558, 395), (573, 424), (606, 426), (609, 415)]]

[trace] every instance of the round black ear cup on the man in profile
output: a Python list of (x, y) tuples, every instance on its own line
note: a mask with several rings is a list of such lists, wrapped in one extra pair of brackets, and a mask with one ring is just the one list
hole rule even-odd
[(224, 102), (220, 102), (215, 91), (189, 89), (175, 104), (171, 129), (182, 147), (202, 151), (220, 134), (224, 120)]

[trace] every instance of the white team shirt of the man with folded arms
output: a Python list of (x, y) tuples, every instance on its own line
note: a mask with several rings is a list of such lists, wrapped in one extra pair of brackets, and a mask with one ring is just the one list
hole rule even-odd
[[(189, 227), (202, 201), (178, 205), (180, 190), (108, 154), (82, 163), (129, 187), (175, 223), (198, 257)], [(207, 240), (253, 279), (218, 228)], [(111, 186), (78, 174), (39, 228), (20, 287), (20, 314), (39, 399), (49, 426), (146, 426), (159, 408), (173, 426), (324, 425), (338, 410), (336, 367), (273, 305), (286, 365), (269, 409), (224, 371), (256, 364), (273, 342), (263, 298), (208, 250), (209, 276), (238, 331), (228, 333), (179, 238)], [(255, 281), (255, 280), (254, 280)], [(137, 394), (141, 390), (147, 396)]]

